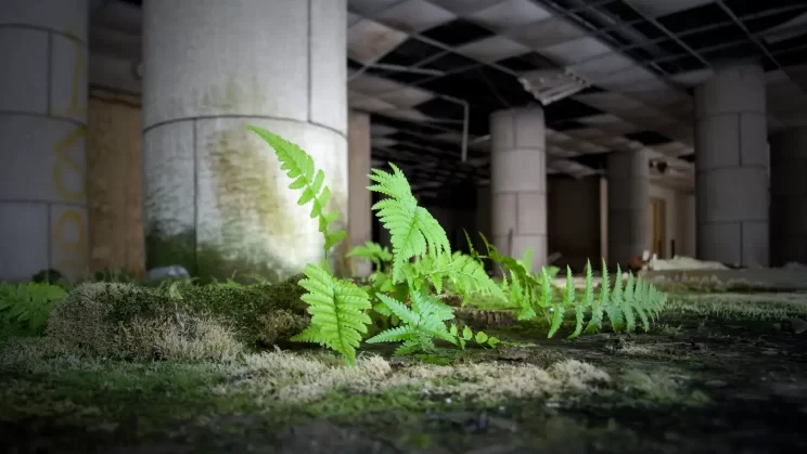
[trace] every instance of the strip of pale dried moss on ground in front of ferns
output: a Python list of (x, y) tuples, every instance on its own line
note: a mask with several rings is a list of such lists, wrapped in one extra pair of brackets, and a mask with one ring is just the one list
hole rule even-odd
[[(121, 371), (133, 373), (139, 367), (183, 367), (188, 373), (198, 368), (198, 373), (216, 373), (223, 377), (210, 386), (210, 394), (226, 397), (246, 393), (258, 404), (310, 403), (340, 390), (361, 395), (406, 392), (417, 398), (438, 395), (489, 402), (564, 392), (588, 393), (611, 382), (611, 377), (604, 371), (576, 360), (561, 361), (548, 368), (479, 363), (458, 366), (417, 364), (394, 369), (386, 360), (376, 355), (359, 358), (355, 366), (348, 367), (329, 354), (277, 350), (242, 353), (229, 364), (207, 362), (148, 366), (81, 356), (47, 339), (16, 340), (7, 345), (0, 351), (0, 366), (30, 374), (47, 374), (56, 379), (60, 375), (88, 371), (118, 376)], [(112, 378), (110, 380), (114, 381)]]

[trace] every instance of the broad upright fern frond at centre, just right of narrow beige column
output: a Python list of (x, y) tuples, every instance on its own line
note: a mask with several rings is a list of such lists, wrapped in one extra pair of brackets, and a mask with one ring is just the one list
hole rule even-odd
[(400, 282), (401, 267), (412, 257), (450, 255), (451, 246), (439, 222), (425, 208), (418, 206), (404, 172), (393, 164), (389, 166), (393, 173), (373, 169), (369, 177), (375, 184), (368, 189), (388, 196), (373, 205), (372, 209), (389, 231), (394, 256), (393, 280)]

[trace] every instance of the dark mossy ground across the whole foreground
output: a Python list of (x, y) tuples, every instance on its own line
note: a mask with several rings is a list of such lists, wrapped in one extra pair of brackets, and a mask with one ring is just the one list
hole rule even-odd
[(650, 333), (546, 339), (355, 367), (318, 350), (125, 363), (47, 339), (0, 353), (12, 452), (799, 452), (807, 316), (798, 294), (676, 295)]

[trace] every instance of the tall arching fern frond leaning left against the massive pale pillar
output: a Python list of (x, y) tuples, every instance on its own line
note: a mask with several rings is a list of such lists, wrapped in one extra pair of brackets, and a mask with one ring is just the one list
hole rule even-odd
[(319, 231), (325, 238), (325, 254), (347, 236), (344, 230), (329, 231), (329, 226), (336, 221), (337, 211), (325, 211), (328, 200), (331, 198), (331, 190), (324, 184), (325, 173), (313, 167), (313, 158), (299, 146), (276, 135), (266, 129), (248, 126), (247, 129), (258, 134), (266, 143), (274, 148), (274, 154), (281, 166), (292, 179), (290, 190), (303, 190), (297, 199), (297, 205), (304, 206), (311, 203), (311, 219), (319, 219)]

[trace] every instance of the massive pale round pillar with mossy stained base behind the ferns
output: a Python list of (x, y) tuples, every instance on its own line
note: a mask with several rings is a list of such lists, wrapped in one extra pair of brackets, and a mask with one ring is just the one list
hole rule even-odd
[(310, 206), (244, 127), (313, 157), (344, 229), (346, 15), (346, 0), (143, 2), (149, 267), (282, 277), (322, 258)]

